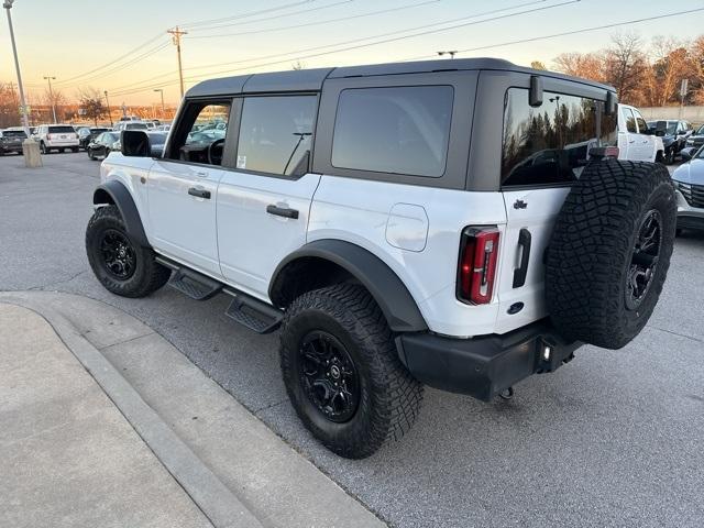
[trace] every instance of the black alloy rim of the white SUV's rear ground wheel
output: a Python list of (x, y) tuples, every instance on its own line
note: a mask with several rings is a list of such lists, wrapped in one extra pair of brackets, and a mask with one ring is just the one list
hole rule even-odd
[(300, 344), (299, 376), (306, 396), (328, 420), (350, 420), (360, 403), (354, 362), (334, 336), (315, 330)]

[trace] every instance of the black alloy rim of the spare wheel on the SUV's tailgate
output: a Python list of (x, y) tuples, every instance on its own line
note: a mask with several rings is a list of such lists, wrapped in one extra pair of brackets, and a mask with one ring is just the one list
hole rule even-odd
[(644, 216), (626, 277), (626, 308), (636, 310), (648, 294), (662, 246), (662, 216), (651, 209)]

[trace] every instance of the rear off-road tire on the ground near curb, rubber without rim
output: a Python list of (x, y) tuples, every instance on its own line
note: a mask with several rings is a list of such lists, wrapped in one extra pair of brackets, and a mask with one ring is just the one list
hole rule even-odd
[[(307, 396), (300, 374), (301, 340), (323, 330), (344, 344), (360, 378), (354, 415), (334, 422)], [(340, 284), (308, 292), (289, 306), (280, 332), (280, 365), (288, 397), (304, 425), (334, 453), (363, 459), (410, 429), (422, 402), (422, 385), (398, 359), (394, 337), (371, 295)]]

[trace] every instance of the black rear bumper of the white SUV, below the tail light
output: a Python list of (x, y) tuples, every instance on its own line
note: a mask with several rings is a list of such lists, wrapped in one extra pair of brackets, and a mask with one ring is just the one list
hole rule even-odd
[[(397, 338), (400, 360), (418, 381), (484, 402), (531, 374), (554, 371), (581, 345), (565, 341), (544, 320), (503, 336), (452, 339), (404, 333)], [(550, 348), (547, 360), (546, 346)]]

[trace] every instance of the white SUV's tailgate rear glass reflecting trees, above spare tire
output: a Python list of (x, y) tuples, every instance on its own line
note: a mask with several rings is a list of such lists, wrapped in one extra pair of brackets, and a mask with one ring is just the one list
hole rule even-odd
[(542, 105), (530, 107), (527, 89), (509, 88), (504, 108), (502, 185), (574, 182), (586, 165), (590, 148), (615, 145), (616, 141), (616, 118), (605, 116), (600, 101), (544, 91)]

